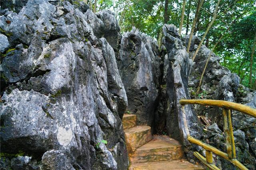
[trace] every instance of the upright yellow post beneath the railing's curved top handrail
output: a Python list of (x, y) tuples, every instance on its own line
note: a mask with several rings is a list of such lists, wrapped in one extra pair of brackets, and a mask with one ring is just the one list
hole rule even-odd
[(226, 148), (230, 159), (236, 158), (236, 149), (231, 122), (231, 113), (229, 109), (223, 109), (224, 116), (224, 132), (226, 134)]

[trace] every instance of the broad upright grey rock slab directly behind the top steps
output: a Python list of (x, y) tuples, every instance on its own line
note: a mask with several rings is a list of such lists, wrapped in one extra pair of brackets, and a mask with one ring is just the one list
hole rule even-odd
[(158, 104), (160, 51), (156, 41), (138, 29), (125, 33), (118, 55), (118, 68), (128, 98), (128, 111), (139, 124), (152, 125)]

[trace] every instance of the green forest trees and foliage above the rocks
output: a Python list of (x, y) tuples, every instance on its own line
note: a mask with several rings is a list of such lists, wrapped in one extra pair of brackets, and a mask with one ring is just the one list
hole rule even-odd
[(182, 37), (192, 32), (221, 58), (220, 64), (238, 74), (241, 84), (256, 89), (255, 0), (83, 1), (94, 12), (112, 10), (123, 33), (134, 26), (161, 42), (164, 23), (180, 27)]

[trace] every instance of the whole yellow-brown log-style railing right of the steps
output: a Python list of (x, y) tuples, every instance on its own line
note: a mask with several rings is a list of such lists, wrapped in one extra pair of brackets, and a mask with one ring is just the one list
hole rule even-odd
[(232, 164), (234, 164), (236, 167), (240, 168), (241, 170), (248, 170), (242, 163), (240, 163), (236, 159), (236, 149), (235, 149), (235, 143), (234, 143), (230, 110), (240, 111), (246, 115), (256, 117), (256, 109), (251, 108), (249, 106), (245, 106), (243, 104), (237, 104), (234, 102), (227, 102), (227, 101), (222, 101), (222, 100), (185, 100), (185, 99), (182, 99), (182, 100), (180, 100), (180, 104), (181, 105), (200, 104), (200, 105), (204, 105), (204, 106), (222, 107), (222, 109), (223, 109), (224, 132), (226, 135), (227, 153), (224, 153), (224, 152), (188, 135), (188, 141), (190, 141), (191, 143), (194, 143), (196, 145), (199, 145), (206, 150), (206, 158), (204, 158), (204, 156), (202, 156), (198, 152), (194, 152), (193, 154), (196, 158), (198, 158), (203, 164), (205, 164), (211, 170), (220, 170), (217, 166), (215, 166), (213, 164), (212, 152), (214, 152), (215, 154), (228, 160), (229, 162), (231, 162)]

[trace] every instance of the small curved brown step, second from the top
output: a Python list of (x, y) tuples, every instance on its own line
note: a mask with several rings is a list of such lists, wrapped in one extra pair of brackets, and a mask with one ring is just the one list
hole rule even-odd
[(134, 152), (138, 147), (148, 143), (152, 139), (150, 126), (135, 126), (124, 129), (128, 152)]

